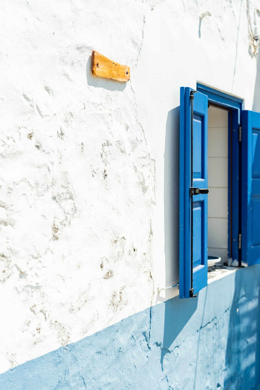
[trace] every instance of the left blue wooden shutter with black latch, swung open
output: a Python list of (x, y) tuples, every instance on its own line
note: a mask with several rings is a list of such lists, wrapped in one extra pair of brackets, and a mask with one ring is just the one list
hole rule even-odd
[[(207, 285), (207, 194), (193, 195), (191, 211), (191, 99), (190, 88), (181, 87), (180, 193), (179, 193), (179, 296), (190, 297), (191, 212), (193, 213), (193, 289)], [(197, 92), (193, 99), (193, 187), (207, 188), (208, 98)]]

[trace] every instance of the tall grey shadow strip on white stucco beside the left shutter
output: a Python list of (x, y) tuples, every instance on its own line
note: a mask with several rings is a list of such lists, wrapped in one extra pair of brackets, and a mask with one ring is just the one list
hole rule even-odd
[(179, 282), (179, 106), (168, 112), (166, 121), (164, 253), (165, 286), (168, 287)]

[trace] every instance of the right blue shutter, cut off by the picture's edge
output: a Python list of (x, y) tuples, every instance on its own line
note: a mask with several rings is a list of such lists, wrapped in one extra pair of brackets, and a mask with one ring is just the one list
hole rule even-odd
[(241, 261), (260, 262), (260, 113), (242, 111)]

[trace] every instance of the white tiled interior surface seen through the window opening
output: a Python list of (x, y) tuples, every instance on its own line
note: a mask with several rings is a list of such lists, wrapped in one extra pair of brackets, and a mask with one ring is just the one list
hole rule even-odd
[(228, 259), (228, 111), (208, 111), (208, 256)]

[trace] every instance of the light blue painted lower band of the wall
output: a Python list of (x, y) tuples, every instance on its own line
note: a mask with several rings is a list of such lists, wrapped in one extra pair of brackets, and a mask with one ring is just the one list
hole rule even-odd
[(259, 390), (260, 266), (0, 375), (0, 389)]

